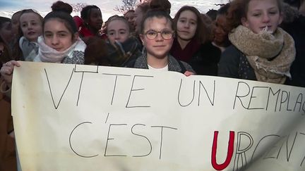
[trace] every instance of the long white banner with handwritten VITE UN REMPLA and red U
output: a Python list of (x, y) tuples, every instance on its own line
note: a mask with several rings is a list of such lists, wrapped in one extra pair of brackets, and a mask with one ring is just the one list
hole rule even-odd
[(22, 170), (305, 170), (305, 89), (178, 72), (22, 62)]

